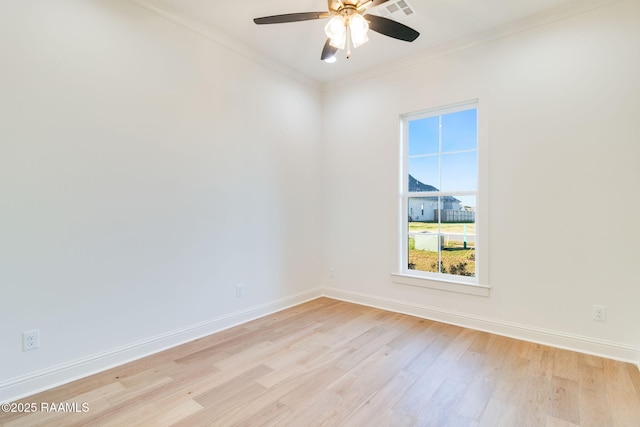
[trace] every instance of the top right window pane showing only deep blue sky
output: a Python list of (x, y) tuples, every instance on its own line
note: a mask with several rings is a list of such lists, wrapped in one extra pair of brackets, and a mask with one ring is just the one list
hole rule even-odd
[(477, 110), (442, 116), (442, 151), (473, 150), (478, 145)]

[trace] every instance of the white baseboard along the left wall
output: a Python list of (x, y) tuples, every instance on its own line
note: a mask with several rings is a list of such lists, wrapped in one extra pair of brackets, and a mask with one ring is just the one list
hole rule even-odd
[(13, 402), (115, 366), (302, 304), (322, 295), (320, 288), (216, 317), (166, 334), (32, 372), (0, 383), (0, 402)]

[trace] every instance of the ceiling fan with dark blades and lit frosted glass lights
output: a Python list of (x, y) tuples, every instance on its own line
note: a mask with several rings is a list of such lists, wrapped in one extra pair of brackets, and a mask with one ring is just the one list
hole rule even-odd
[(331, 18), (324, 27), (327, 41), (322, 49), (320, 59), (326, 62), (335, 62), (338, 49), (346, 49), (346, 56), (349, 58), (352, 45), (356, 48), (366, 43), (369, 40), (367, 36), (368, 30), (407, 42), (412, 42), (418, 38), (420, 33), (413, 28), (382, 16), (365, 14), (369, 8), (387, 1), (389, 0), (327, 0), (329, 10), (326, 12), (264, 16), (255, 18), (253, 22), (258, 25), (283, 24), (286, 22)]

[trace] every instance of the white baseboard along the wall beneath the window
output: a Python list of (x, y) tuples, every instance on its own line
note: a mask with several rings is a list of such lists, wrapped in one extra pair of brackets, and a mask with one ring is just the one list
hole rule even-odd
[(435, 307), (365, 295), (357, 292), (347, 292), (340, 289), (324, 288), (322, 293), (328, 298), (334, 298), (341, 301), (463, 326), (465, 328), (516, 338), (523, 341), (530, 341), (552, 347), (573, 350), (580, 353), (592, 354), (594, 356), (605, 357), (608, 359), (629, 362), (638, 365), (638, 368), (640, 369), (640, 348), (635, 348), (626, 344), (598, 340), (543, 328), (535, 328), (517, 323), (502, 322), (495, 319), (472, 316), (464, 313), (442, 310)]

